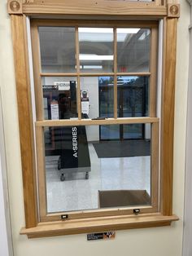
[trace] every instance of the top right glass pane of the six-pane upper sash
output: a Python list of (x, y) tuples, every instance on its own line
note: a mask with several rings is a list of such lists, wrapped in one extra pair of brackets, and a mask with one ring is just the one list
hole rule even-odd
[(117, 29), (118, 72), (149, 72), (150, 29)]

